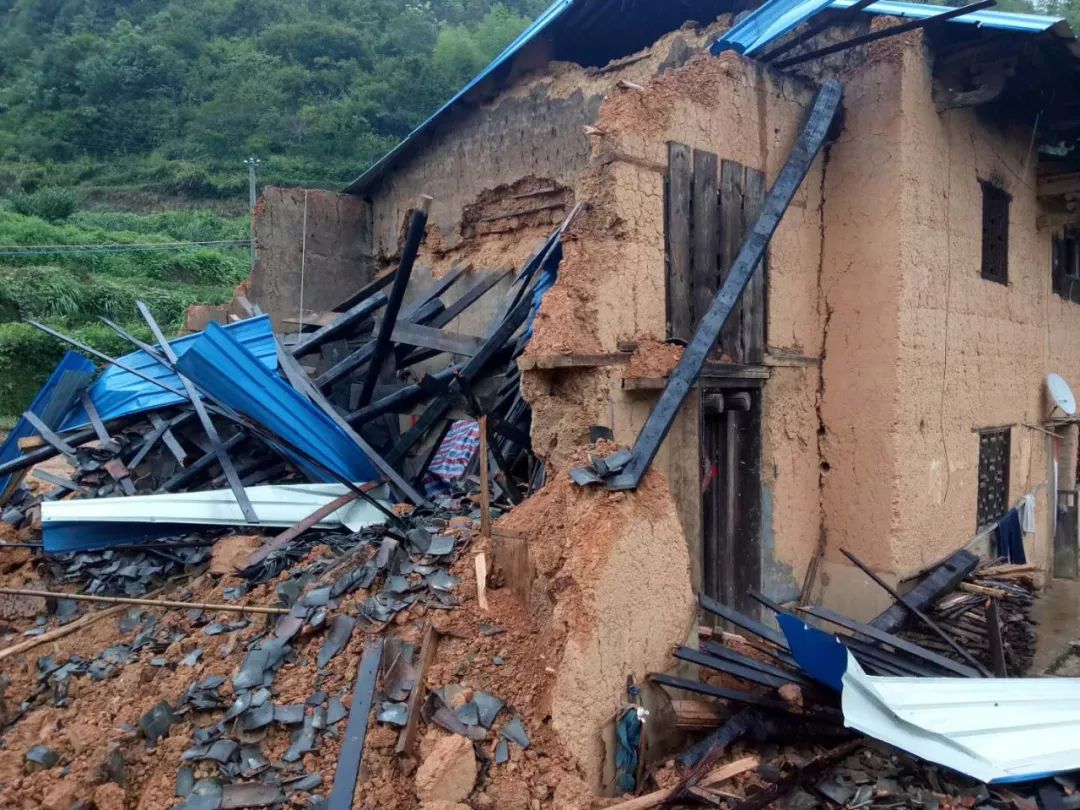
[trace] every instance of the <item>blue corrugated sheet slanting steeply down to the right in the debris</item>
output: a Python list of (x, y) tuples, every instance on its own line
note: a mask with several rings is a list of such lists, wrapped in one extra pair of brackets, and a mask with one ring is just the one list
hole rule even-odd
[[(177, 367), (215, 400), (302, 447), (347, 481), (379, 477), (367, 456), (330, 417), (217, 324), (198, 336)], [(287, 450), (286, 455), (312, 481), (336, 481), (299, 456)]]

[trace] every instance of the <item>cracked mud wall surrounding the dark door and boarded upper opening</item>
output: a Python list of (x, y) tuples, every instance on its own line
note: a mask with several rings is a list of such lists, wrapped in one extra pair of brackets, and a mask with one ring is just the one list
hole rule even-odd
[[(741, 162), (770, 186), (813, 99), (809, 85), (770, 77), (733, 54), (697, 57), (643, 89), (613, 92), (600, 110), (593, 160), (579, 197), (593, 207), (572, 229), (559, 281), (548, 294), (528, 354), (613, 352), (623, 341), (663, 340), (666, 329), (664, 193), (667, 141)], [(820, 536), (816, 362), (822, 346), (818, 273), (822, 241), (822, 160), (815, 161), (769, 251), (771, 378), (764, 402), (762, 588), (787, 598)], [(626, 391), (615, 368), (557, 375), (529, 372), (538, 449), (565, 469), (590, 424), (631, 444), (657, 393)], [(672, 482), (700, 585), (700, 436), (691, 394), (657, 458)], [(809, 516), (809, 517), (808, 517)]]

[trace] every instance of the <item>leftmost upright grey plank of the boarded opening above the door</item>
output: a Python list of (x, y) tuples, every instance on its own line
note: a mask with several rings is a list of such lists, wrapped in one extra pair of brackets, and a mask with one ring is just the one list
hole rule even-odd
[(693, 334), (693, 282), (690, 262), (692, 177), (690, 147), (670, 143), (664, 205), (667, 336), (679, 340), (689, 340)]

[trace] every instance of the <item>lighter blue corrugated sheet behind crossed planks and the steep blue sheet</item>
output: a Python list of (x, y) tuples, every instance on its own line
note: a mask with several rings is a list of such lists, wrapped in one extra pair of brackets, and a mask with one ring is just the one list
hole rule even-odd
[[(251, 352), (264, 368), (273, 370), (278, 367), (278, 349), (274, 343), (273, 332), (270, 328), (270, 319), (267, 315), (238, 321), (237, 323), (229, 324), (225, 329)], [(194, 346), (199, 337), (199, 334), (188, 335), (176, 340), (170, 340), (168, 343), (173, 347), (173, 351), (176, 352), (177, 356), (183, 357)], [(132, 352), (120, 357), (120, 360), (124, 365), (139, 370), (148, 377), (161, 380), (172, 388), (180, 388), (180, 380), (177, 376), (150, 357), (146, 352)], [(148, 382), (117, 366), (109, 366), (102, 373), (102, 376), (91, 386), (90, 396), (97, 407), (98, 413), (100, 413), (102, 419), (105, 421), (184, 402), (176, 394), (170, 393), (152, 382)], [(65, 420), (63, 430), (82, 428), (89, 422), (90, 419), (86, 416), (86, 411), (81, 406), (78, 406), (71, 416)]]

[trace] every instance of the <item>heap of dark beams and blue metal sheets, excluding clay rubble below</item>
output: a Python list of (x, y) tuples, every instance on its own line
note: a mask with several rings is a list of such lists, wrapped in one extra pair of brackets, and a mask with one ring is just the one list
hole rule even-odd
[[(178, 538), (193, 526), (291, 527), (315, 513), (312, 526), (355, 530), (381, 521), (388, 499), (423, 505), (445, 494), (477, 461), (494, 468), (496, 498), (519, 502), (541, 471), (515, 359), (570, 218), (517, 273), (485, 335), (473, 337), (446, 326), (509, 270), (482, 274), (445, 303), (467, 278), (468, 268), (456, 268), (403, 306), (428, 202), (411, 215), (395, 271), (287, 340), (255, 308), (247, 320), (168, 341), (140, 305), (156, 343), (107, 322), (135, 349), (120, 359), (35, 324), (107, 367), (95, 378), (91, 361), (69, 353), (5, 440), (4, 523), (40, 524), (54, 553)], [(456, 362), (426, 372), (440, 355)], [(402, 432), (399, 416), (410, 413), (419, 417)], [(72, 472), (35, 468), (54, 457)], [(51, 491), (19, 486), (31, 468)], [(353, 501), (368, 509), (357, 515)]]

